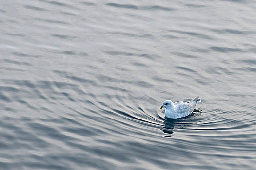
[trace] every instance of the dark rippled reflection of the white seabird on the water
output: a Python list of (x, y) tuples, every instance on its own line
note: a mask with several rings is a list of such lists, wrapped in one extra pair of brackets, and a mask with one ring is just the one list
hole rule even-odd
[(163, 136), (164, 137), (172, 137), (171, 135), (174, 133), (174, 131), (173, 131), (174, 128), (186, 129), (187, 125), (190, 124), (190, 123), (187, 123), (186, 120), (189, 119), (190, 117), (198, 115), (200, 113), (202, 113), (202, 110), (195, 108), (193, 110), (192, 114), (190, 114), (189, 116), (184, 117), (184, 118), (169, 119), (169, 118), (165, 117), (164, 126), (162, 126), (160, 128), (160, 130), (168, 135), (163, 135)]

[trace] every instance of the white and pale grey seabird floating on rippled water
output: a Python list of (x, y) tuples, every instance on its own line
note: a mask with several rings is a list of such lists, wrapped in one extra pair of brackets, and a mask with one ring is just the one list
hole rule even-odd
[(199, 99), (199, 96), (188, 102), (179, 101), (173, 103), (171, 100), (166, 100), (163, 102), (160, 109), (165, 108), (164, 114), (166, 118), (178, 119), (190, 115), (196, 105), (200, 102), (202, 102), (202, 100)]

